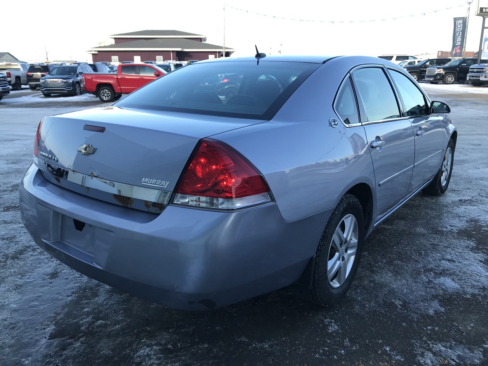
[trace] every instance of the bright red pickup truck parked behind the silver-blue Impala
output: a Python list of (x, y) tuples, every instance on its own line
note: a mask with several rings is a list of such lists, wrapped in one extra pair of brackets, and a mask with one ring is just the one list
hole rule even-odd
[(148, 63), (120, 64), (115, 73), (83, 74), (83, 88), (102, 102), (112, 102), (166, 74), (162, 68)]

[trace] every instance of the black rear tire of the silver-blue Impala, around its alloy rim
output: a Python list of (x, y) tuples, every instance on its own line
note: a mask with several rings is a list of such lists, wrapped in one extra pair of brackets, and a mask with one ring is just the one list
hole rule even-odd
[[(332, 238), (334, 236), (336, 228), (339, 228), (340, 224), (342, 225), (343, 219), (348, 215), (354, 216), (357, 223), (356, 254), (355, 257), (352, 258), (352, 266), (350, 267), (349, 273), (345, 276), (345, 281), (338, 287), (333, 287), (331, 285), (331, 282), (334, 282), (335, 279), (337, 279), (337, 277), (339, 276), (339, 271), (341, 269), (338, 268), (335, 276), (334, 274), (332, 274), (332, 278), (329, 279), (327, 275), (327, 263), (335, 258), (335, 254), (339, 255), (339, 260), (337, 262), (345, 263), (345, 261), (344, 257), (341, 258), (341, 254), (338, 253), (335, 249), (334, 253), (331, 253), (333, 249)], [(315, 267), (313, 269), (312, 286), (307, 291), (301, 290), (300, 294), (306, 300), (318, 305), (332, 305), (337, 303), (344, 297), (347, 290), (352, 284), (354, 276), (356, 275), (359, 260), (361, 258), (361, 252), (364, 243), (363, 215), (364, 214), (361, 203), (359, 203), (359, 200), (355, 196), (346, 194), (343, 198), (341, 198), (334, 212), (332, 212), (329, 221), (325, 225), (324, 232), (322, 233), (322, 237), (320, 238), (319, 246), (316, 252)], [(354, 228), (354, 230), (356, 230), (356, 228)], [(343, 243), (341, 247), (344, 250), (344, 247), (347, 248), (347, 245)], [(345, 253), (347, 253), (347, 249), (345, 250)], [(330, 257), (331, 254), (333, 254), (332, 258)]]

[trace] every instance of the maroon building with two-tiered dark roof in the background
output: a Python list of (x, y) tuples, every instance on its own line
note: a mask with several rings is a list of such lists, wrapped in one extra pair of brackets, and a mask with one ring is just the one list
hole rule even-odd
[[(114, 34), (114, 44), (92, 48), (93, 62), (188, 61), (222, 57), (223, 47), (206, 43), (206, 37), (177, 30), (143, 30)], [(234, 52), (225, 48), (225, 56)]]

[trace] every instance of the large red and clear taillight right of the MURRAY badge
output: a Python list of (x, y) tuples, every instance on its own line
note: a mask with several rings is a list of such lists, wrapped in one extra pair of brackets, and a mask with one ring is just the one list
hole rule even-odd
[[(233, 209), (271, 201), (264, 177), (223, 142), (204, 139), (189, 160), (174, 203)], [(250, 198), (253, 196), (254, 198)]]

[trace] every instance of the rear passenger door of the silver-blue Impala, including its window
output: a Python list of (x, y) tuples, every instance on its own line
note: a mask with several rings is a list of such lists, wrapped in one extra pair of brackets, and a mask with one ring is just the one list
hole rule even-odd
[(374, 167), (379, 218), (407, 196), (415, 152), (412, 126), (402, 115), (385, 68), (368, 66), (352, 76)]

